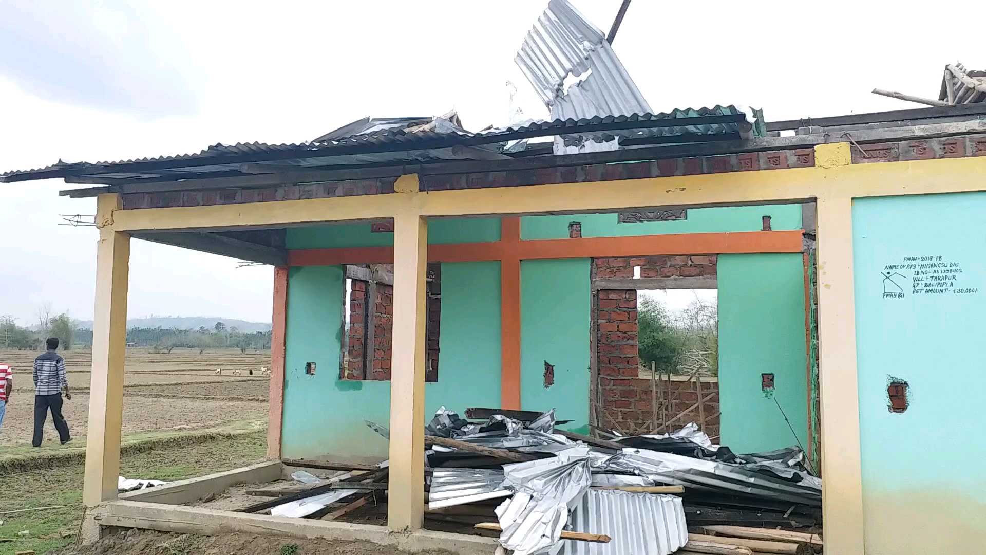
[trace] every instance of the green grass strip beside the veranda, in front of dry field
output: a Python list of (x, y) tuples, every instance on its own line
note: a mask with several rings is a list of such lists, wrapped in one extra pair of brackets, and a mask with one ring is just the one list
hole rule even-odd
[[(196, 437), (194, 441), (176, 439), (152, 446), (153, 450), (148, 448), (122, 454), (120, 475), (172, 481), (246, 466), (263, 460), (267, 432), (255, 430), (211, 439)], [(22, 536), (17, 535), (19, 531), (31, 532), (24, 539), (0, 543), (0, 555), (31, 549), (41, 555), (74, 542), (74, 534), (82, 517), (83, 475), (82, 460), (56, 468), (7, 472), (6, 487), (0, 488), (0, 507), (3, 511), (45, 506), (64, 508), (0, 515), (0, 519), (4, 520), (0, 525), (0, 537), (20, 538)], [(71, 535), (62, 537), (62, 534)], [(176, 554), (193, 552), (194, 545), (186, 546), (184, 541), (176, 544)]]

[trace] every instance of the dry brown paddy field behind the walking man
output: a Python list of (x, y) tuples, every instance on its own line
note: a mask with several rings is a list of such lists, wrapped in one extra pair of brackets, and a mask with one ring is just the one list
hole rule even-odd
[[(32, 362), (29, 351), (0, 351), (0, 362), (14, 368), (14, 394), (0, 427), (0, 445), (30, 444), (34, 427)], [(89, 417), (89, 385), (92, 353), (61, 353), (68, 370), (72, 400), (63, 413), (73, 446), (84, 444)], [(239, 349), (175, 349), (171, 354), (152, 354), (146, 349), (127, 349), (123, 389), (123, 436), (148, 432), (195, 431), (237, 428), (244, 422), (267, 416), (269, 380), (260, 368), (270, 367), (270, 352)], [(222, 375), (216, 375), (216, 369)], [(234, 376), (238, 369), (242, 375)], [(249, 375), (253, 370), (253, 375)], [(58, 435), (48, 418), (45, 445), (57, 445)], [(2, 450), (2, 449), (0, 449)]]

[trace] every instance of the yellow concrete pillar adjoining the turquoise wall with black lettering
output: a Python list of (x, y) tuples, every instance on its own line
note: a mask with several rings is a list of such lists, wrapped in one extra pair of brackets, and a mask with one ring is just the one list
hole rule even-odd
[[(824, 159), (826, 167), (848, 165), (848, 144), (819, 145), (815, 147), (815, 158)], [(844, 194), (822, 194), (815, 205), (825, 550), (863, 555), (853, 201)]]

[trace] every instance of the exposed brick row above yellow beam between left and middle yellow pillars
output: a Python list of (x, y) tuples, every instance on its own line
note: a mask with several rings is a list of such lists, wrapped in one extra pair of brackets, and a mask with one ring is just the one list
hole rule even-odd
[(123, 208), (162, 208), (241, 204), (302, 198), (355, 197), (393, 193), (396, 178), (338, 181), (306, 185), (282, 185), (265, 189), (220, 189), (169, 193), (130, 193), (121, 195)]

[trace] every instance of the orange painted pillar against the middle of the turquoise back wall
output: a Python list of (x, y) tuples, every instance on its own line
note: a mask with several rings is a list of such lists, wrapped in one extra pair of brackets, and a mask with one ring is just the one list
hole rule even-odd
[[(505, 217), (500, 241), (521, 241), (521, 218)], [(500, 407), (521, 410), (521, 260), (517, 249), (504, 249), (500, 261)]]

